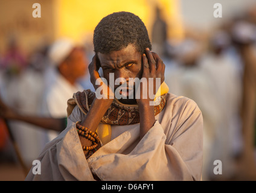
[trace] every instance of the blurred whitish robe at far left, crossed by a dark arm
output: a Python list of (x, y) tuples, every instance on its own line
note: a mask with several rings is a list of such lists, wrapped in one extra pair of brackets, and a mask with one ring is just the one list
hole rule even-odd
[[(27, 69), (11, 79), (5, 79), (3, 76), (1, 84), (4, 103), (22, 115), (39, 114), (44, 89), (42, 73)], [(8, 120), (8, 123), (22, 159), (30, 166), (45, 145), (45, 139), (42, 138), (43, 129), (23, 121)]]

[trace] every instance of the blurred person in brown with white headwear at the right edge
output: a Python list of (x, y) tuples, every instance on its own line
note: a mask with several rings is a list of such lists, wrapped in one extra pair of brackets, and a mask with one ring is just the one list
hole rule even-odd
[[(253, 9), (250, 9), (252, 11)], [(232, 40), (243, 62), (242, 131), (243, 151), (238, 159), (238, 180), (256, 180), (256, 26), (252, 12), (246, 19), (234, 22)], [(254, 12), (253, 12), (254, 13)]]

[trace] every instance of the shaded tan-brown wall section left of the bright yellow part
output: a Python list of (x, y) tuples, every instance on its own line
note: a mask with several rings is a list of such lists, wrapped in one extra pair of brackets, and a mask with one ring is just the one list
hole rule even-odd
[[(32, 16), (35, 2), (40, 2), (41, 17)], [(4, 54), (8, 40), (16, 37), (25, 53), (43, 42), (54, 39), (53, 1), (0, 0), (0, 54)]]

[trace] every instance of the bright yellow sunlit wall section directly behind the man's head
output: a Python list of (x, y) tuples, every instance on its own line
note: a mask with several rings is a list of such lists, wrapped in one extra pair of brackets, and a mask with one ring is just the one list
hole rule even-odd
[(181, 17), (178, 0), (58, 0), (59, 7), (56, 37), (68, 36), (80, 41), (91, 39), (98, 22), (107, 14), (116, 11), (130, 11), (138, 15), (151, 34), (155, 17), (155, 5), (163, 11), (170, 30), (169, 37), (182, 37)]

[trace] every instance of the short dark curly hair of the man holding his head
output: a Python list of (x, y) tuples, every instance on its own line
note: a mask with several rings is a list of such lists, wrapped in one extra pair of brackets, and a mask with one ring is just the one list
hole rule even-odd
[(133, 13), (121, 11), (101, 19), (94, 30), (94, 51), (108, 54), (133, 44), (138, 52), (152, 49), (147, 28)]

